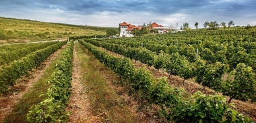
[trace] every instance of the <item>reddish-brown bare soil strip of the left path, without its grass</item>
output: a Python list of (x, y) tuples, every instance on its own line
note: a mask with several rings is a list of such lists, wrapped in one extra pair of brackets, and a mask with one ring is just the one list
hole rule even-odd
[(11, 112), (15, 104), (19, 102), (22, 96), (24, 96), (24, 94), (26, 94), (26, 92), (28, 92), (28, 90), (30, 90), (30, 88), (32, 88), (32, 86), (38, 82), (53, 59), (59, 55), (61, 49), (64, 47), (65, 45), (55, 51), (55, 53), (48, 57), (37, 69), (33, 69), (30, 74), (17, 80), (16, 84), (10, 88), (8, 94), (0, 96), (0, 122), (3, 121), (9, 112)]

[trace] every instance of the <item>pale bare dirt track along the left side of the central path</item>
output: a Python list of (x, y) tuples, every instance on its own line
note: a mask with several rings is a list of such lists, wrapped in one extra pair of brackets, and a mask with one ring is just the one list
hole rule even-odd
[(81, 66), (77, 56), (76, 47), (73, 51), (73, 75), (72, 75), (72, 94), (69, 98), (67, 112), (71, 112), (68, 122), (85, 122), (90, 118), (90, 101), (84, 84), (82, 84)]

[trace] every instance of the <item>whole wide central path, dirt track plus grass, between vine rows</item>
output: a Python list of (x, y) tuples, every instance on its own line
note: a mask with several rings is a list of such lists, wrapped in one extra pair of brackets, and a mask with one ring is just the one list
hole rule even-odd
[(68, 122), (149, 122), (137, 102), (118, 86), (119, 78), (75, 42)]

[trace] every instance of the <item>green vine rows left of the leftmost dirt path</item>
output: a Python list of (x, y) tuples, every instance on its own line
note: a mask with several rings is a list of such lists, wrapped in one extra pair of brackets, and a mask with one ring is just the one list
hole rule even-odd
[[(27, 48), (22, 49), (20, 49), (20, 45), (3, 47), (1, 49), (3, 50), (3, 55), (1, 55), (3, 56), (1, 58), (3, 64), (0, 66), (0, 94), (6, 92), (9, 86), (15, 84), (15, 80), (20, 78), (20, 76), (28, 74), (32, 68), (39, 66), (44, 59), (49, 57), (49, 55), (65, 43), (67, 42), (37, 43), (36, 45), (28, 45)], [(22, 57), (23, 55), (24, 57)]]

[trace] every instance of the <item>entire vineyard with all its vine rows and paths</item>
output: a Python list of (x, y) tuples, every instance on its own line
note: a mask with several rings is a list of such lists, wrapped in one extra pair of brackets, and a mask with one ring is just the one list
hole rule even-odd
[[(1, 45), (0, 121), (255, 122), (255, 31), (195, 29)], [(29, 83), (28, 76), (44, 68), (44, 80), (8, 103), (19, 95), (12, 91), (20, 79)]]

